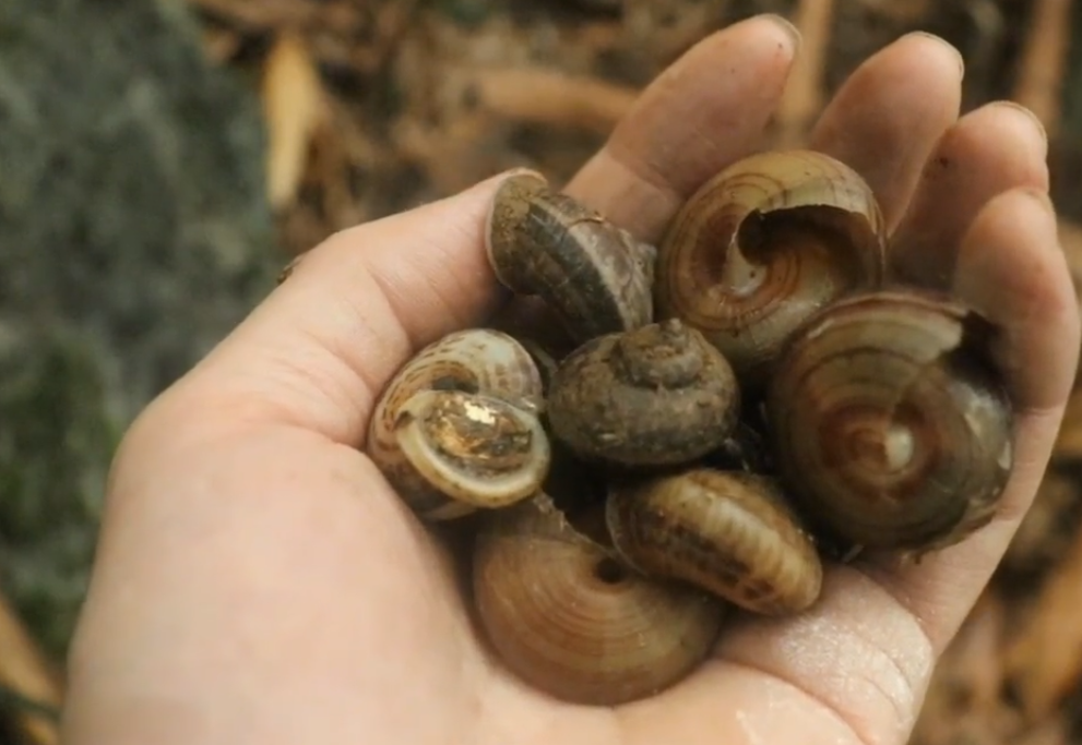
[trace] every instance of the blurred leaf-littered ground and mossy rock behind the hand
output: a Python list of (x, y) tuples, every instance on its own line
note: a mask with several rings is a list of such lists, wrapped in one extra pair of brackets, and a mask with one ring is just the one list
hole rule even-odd
[[(1080, 267), (1080, 5), (2, 0), (0, 745), (57, 742), (120, 435), (289, 257), (511, 166), (567, 180), (669, 62), (769, 11), (804, 34), (777, 145), (869, 55), (939, 34), (965, 56), (966, 109), (1010, 98), (1045, 122)], [(1082, 397), (914, 745), (1082, 743), (1080, 462)]]

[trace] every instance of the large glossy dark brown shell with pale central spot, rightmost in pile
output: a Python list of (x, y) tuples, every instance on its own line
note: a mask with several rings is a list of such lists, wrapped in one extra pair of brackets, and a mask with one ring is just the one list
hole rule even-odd
[(994, 516), (1013, 458), (990, 326), (950, 298), (864, 292), (788, 344), (766, 397), (778, 468), (830, 534), (917, 553)]

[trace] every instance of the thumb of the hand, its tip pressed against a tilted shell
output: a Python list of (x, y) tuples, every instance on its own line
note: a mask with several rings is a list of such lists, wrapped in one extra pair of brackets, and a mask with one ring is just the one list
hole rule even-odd
[(211, 402), (227, 421), (360, 442), (380, 389), (411, 355), (481, 323), (506, 298), (484, 230), (510, 175), (332, 236), (176, 387), (197, 388), (201, 408)]

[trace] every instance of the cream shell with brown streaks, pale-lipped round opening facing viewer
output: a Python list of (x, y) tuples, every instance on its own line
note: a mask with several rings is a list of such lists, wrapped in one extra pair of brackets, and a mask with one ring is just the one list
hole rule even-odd
[(534, 494), (551, 459), (542, 381), (507, 334), (472, 329), (423, 349), (376, 405), (367, 448), (402, 498), (430, 520)]

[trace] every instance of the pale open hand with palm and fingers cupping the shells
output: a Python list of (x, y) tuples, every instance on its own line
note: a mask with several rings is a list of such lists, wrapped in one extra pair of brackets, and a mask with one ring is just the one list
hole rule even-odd
[[(566, 190), (657, 239), (697, 185), (764, 146), (797, 46), (769, 17), (705, 39)], [(810, 612), (741, 620), (650, 699), (571, 706), (520, 683), (471, 625), (451, 552), (359, 449), (395, 369), (507, 302), (483, 250), (491, 179), (317, 247), (132, 426), (64, 742), (904, 743), (1033, 498), (1078, 363), (1043, 132), (1006, 104), (960, 118), (961, 76), (949, 46), (905, 37), (854, 73), (807, 144), (868, 179), (895, 267), (1002, 331), (1016, 466), (987, 528), (918, 566), (831, 568)]]

